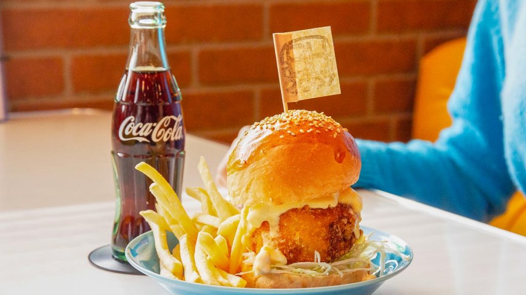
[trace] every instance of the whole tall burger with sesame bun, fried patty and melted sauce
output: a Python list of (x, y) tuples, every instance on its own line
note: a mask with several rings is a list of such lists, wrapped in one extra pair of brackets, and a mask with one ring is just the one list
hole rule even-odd
[[(254, 123), (227, 164), (232, 202), (246, 207), (240, 275), (252, 288), (306, 288), (372, 278), (360, 261), (355, 140), (331, 117), (290, 110)], [(360, 248), (360, 249), (357, 249)]]

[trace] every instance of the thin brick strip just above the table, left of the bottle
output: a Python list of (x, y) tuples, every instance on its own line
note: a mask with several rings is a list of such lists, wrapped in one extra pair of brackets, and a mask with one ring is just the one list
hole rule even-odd
[(26, 102), (24, 100), (14, 101), (11, 103), (11, 111), (25, 112), (25, 111), (47, 111), (58, 109), (71, 108), (90, 108), (100, 110), (113, 110), (113, 96), (94, 96), (83, 97), (82, 100), (62, 100), (53, 99), (37, 102)]

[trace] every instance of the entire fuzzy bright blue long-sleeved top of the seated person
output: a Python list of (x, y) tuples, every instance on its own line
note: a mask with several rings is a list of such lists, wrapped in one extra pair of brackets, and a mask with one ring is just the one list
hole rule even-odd
[(483, 221), (526, 191), (526, 1), (479, 0), (448, 111), (435, 143), (357, 140), (356, 186)]

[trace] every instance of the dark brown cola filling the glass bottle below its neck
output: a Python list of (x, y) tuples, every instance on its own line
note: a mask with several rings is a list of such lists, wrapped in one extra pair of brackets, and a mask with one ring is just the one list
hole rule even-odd
[(115, 98), (112, 160), (117, 195), (112, 249), (125, 260), (129, 241), (150, 230), (141, 210), (155, 209), (151, 181), (135, 170), (155, 167), (180, 195), (185, 128), (180, 92), (170, 71), (126, 71)]

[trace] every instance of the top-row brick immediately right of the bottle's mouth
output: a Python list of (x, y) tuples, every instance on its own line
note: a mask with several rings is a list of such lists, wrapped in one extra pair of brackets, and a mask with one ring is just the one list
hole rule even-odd
[(261, 5), (166, 6), (166, 42), (260, 39)]

